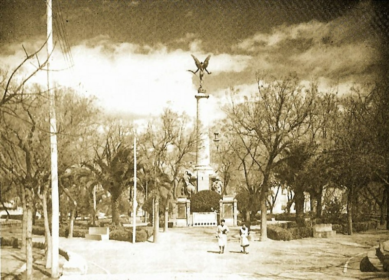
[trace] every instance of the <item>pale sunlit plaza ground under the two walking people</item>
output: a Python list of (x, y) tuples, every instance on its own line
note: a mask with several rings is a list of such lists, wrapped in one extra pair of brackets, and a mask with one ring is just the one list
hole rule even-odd
[[(389, 239), (387, 230), (370, 230), (352, 236), (337, 234), (323, 239), (267, 242), (259, 242), (258, 231), (255, 231), (251, 235), (248, 255), (240, 253), (238, 227), (231, 227), (230, 231), (224, 254), (218, 254), (214, 227), (169, 228), (168, 232), (159, 233), (158, 244), (60, 238), (61, 248), (82, 256), (88, 262), (87, 275), (62, 276), (61, 279), (389, 278), (389, 274), (359, 271), (359, 262), (367, 251)], [(34, 241), (43, 242), (43, 236), (35, 236)]]

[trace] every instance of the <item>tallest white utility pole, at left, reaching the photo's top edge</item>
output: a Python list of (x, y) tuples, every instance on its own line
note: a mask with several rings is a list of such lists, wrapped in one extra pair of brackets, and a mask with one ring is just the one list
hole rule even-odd
[(52, 179), (52, 278), (58, 278), (59, 259), (59, 197), (58, 197), (58, 153), (57, 125), (55, 119), (55, 94), (50, 64), (53, 61), (53, 2), (47, 0), (47, 91), (50, 99), (50, 148), (51, 148), (51, 179)]

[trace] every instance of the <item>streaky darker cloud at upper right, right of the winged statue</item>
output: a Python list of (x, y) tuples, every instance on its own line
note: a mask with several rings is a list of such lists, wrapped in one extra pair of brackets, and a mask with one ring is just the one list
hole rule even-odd
[(370, 4), (362, 2), (333, 21), (279, 25), (232, 49), (252, 55), (251, 65), (277, 76), (296, 72), (302, 79), (364, 80), (376, 75), (374, 67), (380, 61), (372, 21)]

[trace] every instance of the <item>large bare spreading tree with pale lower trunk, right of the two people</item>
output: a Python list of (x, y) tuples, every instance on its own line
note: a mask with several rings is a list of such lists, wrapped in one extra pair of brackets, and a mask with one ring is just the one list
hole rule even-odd
[[(259, 184), (262, 241), (267, 239), (266, 198), (271, 185), (270, 175), (283, 160), (282, 152), (307, 133), (310, 111), (317, 94), (315, 85), (303, 88), (293, 75), (282, 80), (266, 80), (265, 76), (257, 74), (258, 93), (249, 97), (236, 93), (226, 110), (231, 120), (231, 130), (242, 135), (248, 156), (262, 173)], [(249, 144), (253, 140), (259, 152), (253, 153)]]

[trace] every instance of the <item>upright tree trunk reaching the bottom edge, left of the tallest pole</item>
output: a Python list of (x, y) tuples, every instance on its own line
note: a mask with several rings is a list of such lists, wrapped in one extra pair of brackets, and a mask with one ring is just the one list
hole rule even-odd
[(26, 190), (26, 280), (33, 280), (33, 193)]

